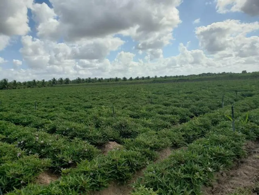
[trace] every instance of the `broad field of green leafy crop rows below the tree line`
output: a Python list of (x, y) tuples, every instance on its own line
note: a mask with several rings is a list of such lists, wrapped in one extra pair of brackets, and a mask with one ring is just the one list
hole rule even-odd
[[(200, 194), (259, 136), (258, 80), (67, 85), (0, 91), (3, 194)], [(234, 107), (235, 132), (231, 106)], [(110, 142), (118, 146), (104, 153)], [(153, 163), (159, 152), (171, 155)], [(36, 182), (42, 173), (58, 179)]]

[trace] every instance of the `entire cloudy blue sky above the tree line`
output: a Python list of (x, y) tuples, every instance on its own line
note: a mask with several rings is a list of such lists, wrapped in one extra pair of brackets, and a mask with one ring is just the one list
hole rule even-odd
[(0, 79), (259, 71), (259, 0), (2, 0)]

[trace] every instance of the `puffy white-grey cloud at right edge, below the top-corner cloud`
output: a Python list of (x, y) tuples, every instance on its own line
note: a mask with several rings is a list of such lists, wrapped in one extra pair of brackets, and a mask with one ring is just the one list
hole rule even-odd
[(247, 33), (259, 30), (259, 23), (241, 23), (238, 20), (215, 22), (197, 27), (196, 36), (202, 49), (210, 54), (251, 56), (259, 52), (258, 36), (247, 37)]

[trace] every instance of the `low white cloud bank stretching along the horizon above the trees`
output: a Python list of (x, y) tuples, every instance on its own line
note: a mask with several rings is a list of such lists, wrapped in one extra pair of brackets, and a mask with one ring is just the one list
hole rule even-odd
[[(250, 45), (257, 39), (251, 38)], [(244, 53), (247, 47), (242, 46)], [(249, 48), (249, 47), (248, 47)], [(154, 75), (186, 75), (202, 72), (241, 72), (244, 67), (252, 72), (259, 70), (259, 54), (254, 56), (214, 54), (211, 57), (205, 55), (202, 50), (188, 50), (187, 46), (179, 44), (179, 54), (168, 58), (160, 58), (155, 61), (138, 59), (134, 61), (135, 54), (121, 51), (113, 61), (108, 59), (65, 61), (57, 65), (47, 65), (40, 69), (5, 69), (1, 70), (0, 77), (17, 80), (51, 79), (52, 77), (123, 77), (126, 76), (154, 76)], [(39, 52), (40, 53), (40, 52)], [(57, 62), (57, 61), (56, 61)]]

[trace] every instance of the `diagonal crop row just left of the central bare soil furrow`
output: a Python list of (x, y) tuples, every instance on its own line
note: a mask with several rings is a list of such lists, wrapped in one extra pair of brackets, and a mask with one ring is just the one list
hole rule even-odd
[[(245, 112), (257, 108), (258, 105), (258, 97), (253, 97), (239, 102), (238, 106), (235, 108), (237, 112)], [(221, 109), (213, 114), (199, 117), (200, 119), (194, 119), (196, 122), (192, 123), (192, 125), (190, 125), (190, 123), (190, 126), (186, 125), (185, 128), (183, 128), (183, 125), (182, 127), (179, 127), (178, 133), (182, 133), (183, 137), (183, 140), (180, 140), (180, 142), (191, 142), (194, 139), (204, 136), (213, 128), (213, 125), (218, 125), (221, 120), (227, 121), (227, 117), (224, 117), (226, 110), (227, 108)], [(212, 120), (205, 119), (209, 116)], [(205, 126), (202, 124), (203, 120), (205, 121)], [(207, 124), (207, 121), (211, 121), (211, 124)], [(226, 124), (230, 125), (229, 123)], [(206, 127), (206, 125), (208, 126)], [(240, 126), (242, 126), (241, 123)], [(198, 133), (196, 131), (198, 131)], [(172, 132), (177, 131), (172, 130)], [(151, 133), (150, 136), (153, 137), (161, 134), (159, 131), (157, 134), (151, 131), (146, 133), (147, 135), (142, 137), (143, 141), (148, 138), (148, 133)], [(142, 144), (140, 139), (131, 140), (128, 142), (129, 145), (127, 145), (127, 143), (125, 144), (125, 148), (127, 148), (127, 150), (110, 151), (107, 156), (101, 155), (91, 161), (81, 162), (78, 164), (77, 168), (67, 169), (60, 180), (50, 184), (49, 186), (28, 185), (26, 188), (21, 191), (17, 190), (15, 193), (28, 195), (78, 194), (84, 191), (100, 190), (107, 187), (111, 180), (125, 181), (132, 176), (137, 169), (149, 164), (149, 161), (155, 157), (153, 150), (159, 150), (175, 144), (173, 142), (164, 144), (165, 139), (168, 139), (169, 137), (170, 136), (166, 135), (163, 139), (163, 137), (160, 136), (157, 137), (154, 142), (149, 139), (149, 141), (146, 141), (145, 144)], [(175, 140), (174, 136), (171, 136), (171, 138)], [(133, 142), (135, 143), (131, 144)], [(155, 145), (155, 147), (152, 148), (152, 146), (154, 146), (157, 142), (158, 145)], [(150, 148), (153, 150), (150, 150)]]

